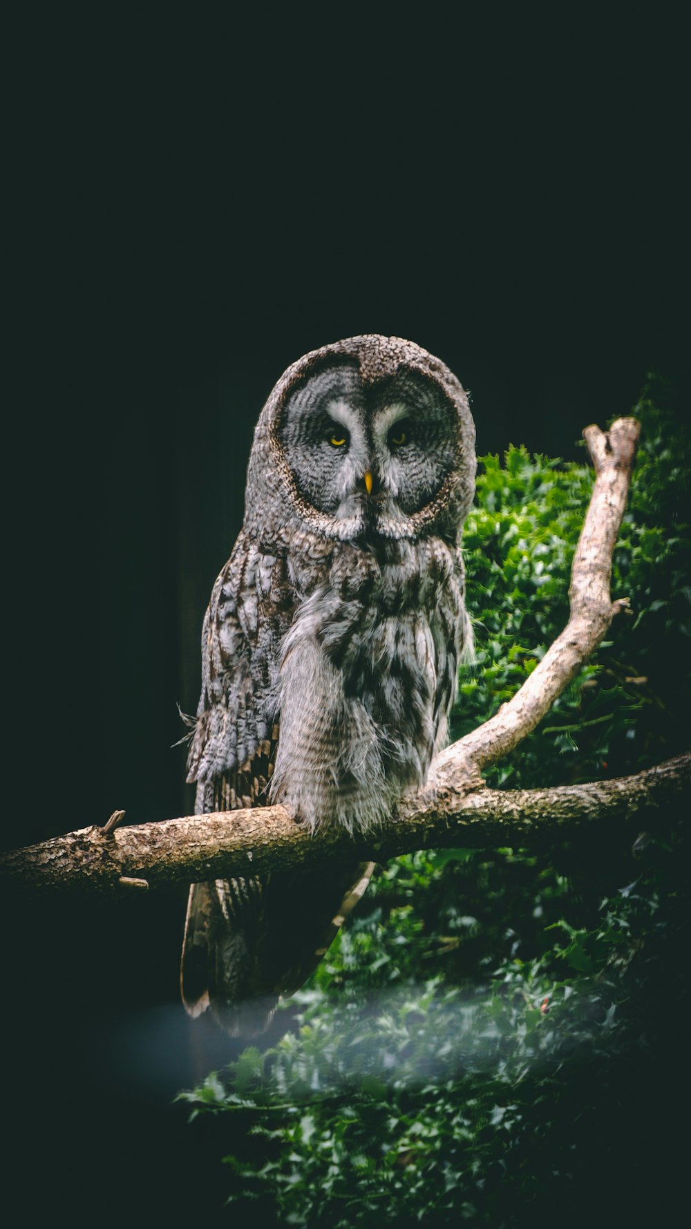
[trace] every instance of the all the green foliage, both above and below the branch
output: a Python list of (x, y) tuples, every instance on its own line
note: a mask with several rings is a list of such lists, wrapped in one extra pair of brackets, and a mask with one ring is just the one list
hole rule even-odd
[[(691, 457), (649, 395), (634, 413), (643, 442), (612, 576), (632, 617), (493, 784), (610, 777), (682, 750)], [(515, 692), (563, 626), (590, 487), (585, 465), (524, 449), (482, 460), (465, 535), (477, 666), (454, 736)], [(660, 1088), (681, 1045), (674, 816), (666, 831), (634, 854), (448, 849), (385, 868), (284, 1005), (284, 1036), (182, 1094), (193, 1116), (219, 1116), (230, 1213), (333, 1229), (600, 1224), (589, 1192), (625, 1159), (628, 1203), (618, 1191), (610, 1214), (641, 1211), (637, 1175), (671, 1155)], [(632, 1127), (642, 1106), (659, 1155)]]

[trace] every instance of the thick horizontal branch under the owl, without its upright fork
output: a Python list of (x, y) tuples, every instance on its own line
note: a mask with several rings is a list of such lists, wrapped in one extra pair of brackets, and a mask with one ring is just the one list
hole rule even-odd
[(143, 881), (171, 886), (317, 866), (331, 858), (384, 862), (423, 847), (532, 848), (593, 825), (598, 838), (617, 826), (636, 834), (643, 816), (669, 807), (690, 782), (691, 753), (634, 777), (586, 785), (471, 793), (445, 787), (406, 800), (366, 838), (343, 828), (311, 833), (283, 806), (192, 815), (112, 834), (91, 827), (2, 854), (0, 870), (32, 887), (103, 893)]

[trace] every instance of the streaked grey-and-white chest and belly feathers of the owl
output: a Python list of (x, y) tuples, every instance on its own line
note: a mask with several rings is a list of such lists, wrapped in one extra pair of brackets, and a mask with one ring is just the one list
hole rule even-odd
[(314, 823), (368, 827), (422, 784), (445, 737), (462, 568), (439, 538), (348, 543), (300, 594), (294, 558), (274, 796)]

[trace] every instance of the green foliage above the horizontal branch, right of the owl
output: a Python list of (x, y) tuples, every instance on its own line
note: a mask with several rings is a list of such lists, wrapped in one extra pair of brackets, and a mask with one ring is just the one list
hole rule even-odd
[[(611, 640), (541, 726), (489, 771), (488, 784), (595, 780), (685, 748), (679, 686), (691, 672), (691, 444), (650, 392), (633, 409), (642, 441), (612, 568), (612, 597), (630, 599), (631, 617), (617, 617)], [(585, 463), (562, 466), (523, 447), (510, 447), (504, 466), (481, 460), (464, 533), (477, 666), (461, 676), (454, 737), (518, 691), (564, 626), (591, 484)]]

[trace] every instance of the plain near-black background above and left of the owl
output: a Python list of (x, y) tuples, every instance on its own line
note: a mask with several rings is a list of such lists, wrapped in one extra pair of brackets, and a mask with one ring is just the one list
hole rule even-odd
[[(6, 846), (192, 809), (177, 704), (301, 354), (418, 342), (480, 452), (580, 456), (650, 369), (686, 413), (681, 31), (488, 16), (17, 32)], [(168, 1107), (231, 1053), (177, 1004), (184, 892), (6, 913), (26, 1222), (216, 1208), (223, 1147)]]

